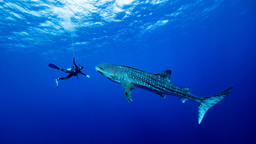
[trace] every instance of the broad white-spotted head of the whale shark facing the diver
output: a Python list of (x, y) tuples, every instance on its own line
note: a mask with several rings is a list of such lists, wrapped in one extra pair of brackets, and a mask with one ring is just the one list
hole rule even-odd
[(102, 74), (104, 77), (108, 78), (111, 81), (115, 81), (115, 73), (117, 69), (117, 65), (111, 65), (111, 64), (100, 64), (95, 66), (95, 69)]

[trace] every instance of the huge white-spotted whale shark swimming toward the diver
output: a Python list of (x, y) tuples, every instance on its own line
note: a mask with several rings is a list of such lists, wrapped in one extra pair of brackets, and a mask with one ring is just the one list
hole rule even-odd
[(225, 98), (233, 88), (231, 87), (218, 95), (200, 98), (191, 94), (189, 92), (189, 87), (179, 87), (172, 84), (170, 81), (171, 70), (165, 70), (158, 74), (151, 74), (139, 69), (111, 64), (101, 64), (97, 65), (95, 68), (104, 77), (115, 83), (121, 84), (125, 97), (129, 102), (132, 102), (131, 90), (134, 90), (135, 87), (155, 92), (163, 98), (165, 98), (166, 95), (171, 95), (179, 97), (182, 102), (185, 102), (188, 99), (197, 101), (199, 104), (199, 124), (206, 111)]

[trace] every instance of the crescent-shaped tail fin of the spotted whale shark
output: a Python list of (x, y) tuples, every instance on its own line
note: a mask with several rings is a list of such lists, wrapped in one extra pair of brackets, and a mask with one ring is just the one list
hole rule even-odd
[(206, 113), (206, 111), (214, 106), (215, 104), (217, 104), (218, 102), (220, 102), (223, 98), (225, 98), (230, 90), (232, 89), (233, 87), (221, 92), (220, 94), (218, 95), (214, 95), (214, 96), (211, 96), (211, 97), (203, 97), (203, 98), (200, 98), (200, 100), (202, 102), (198, 103), (199, 104), (199, 108), (198, 108), (198, 111), (199, 111), (199, 117), (198, 117), (198, 123), (200, 124), (200, 122), (202, 121), (203, 119), (203, 116), (204, 114)]

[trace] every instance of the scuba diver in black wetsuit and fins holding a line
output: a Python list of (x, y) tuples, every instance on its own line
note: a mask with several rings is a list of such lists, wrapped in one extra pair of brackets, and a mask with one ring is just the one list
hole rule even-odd
[[(57, 67), (57, 66), (54, 65), (54, 64), (49, 64), (49, 65), (48, 65), (48, 66), (51, 67), (51, 68), (58, 69), (58, 70), (62, 70), (62, 71), (64, 71), (65, 73), (69, 73), (69, 75), (66, 76), (66, 77), (63, 77), (63, 78), (56, 78), (57, 88), (58, 88), (58, 80), (59, 80), (59, 79), (60, 79), (60, 80), (62, 80), (62, 79), (68, 79), (68, 78), (70, 78), (70, 77), (72, 77), (72, 76), (77, 76), (79, 73), (82, 74), (82, 75), (85, 75), (85, 76), (87, 76), (87, 77), (90, 77), (90, 76), (88, 76), (88, 75), (86, 75), (86, 74), (84, 74), (84, 73), (81, 72), (81, 69), (83, 69), (84, 67), (83, 67), (83, 66), (80, 66), (80, 65), (79, 65), (79, 67), (78, 67), (78, 66), (76, 65), (76, 63), (75, 63), (75, 57), (73, 57), (73, 63), (74, 63), (74, 65), (75, 65), (75, 67), (71, 67), (71, 68), (69, 68), (69, 69), (67, 69), (67, 70), (61, 69), (60, 67)], [(77, 76), (77, 79), (78, 79), (78, 76)]]

